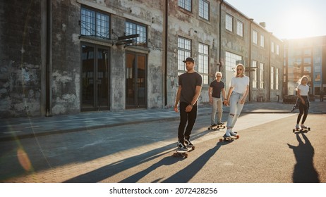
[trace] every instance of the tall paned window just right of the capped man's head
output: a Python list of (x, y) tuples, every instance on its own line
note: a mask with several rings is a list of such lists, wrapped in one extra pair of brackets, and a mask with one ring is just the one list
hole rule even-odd
[(203, 84), (208, 84), (208, 45), (199, 44), (198, 46), (198, 72), (203, 77)]

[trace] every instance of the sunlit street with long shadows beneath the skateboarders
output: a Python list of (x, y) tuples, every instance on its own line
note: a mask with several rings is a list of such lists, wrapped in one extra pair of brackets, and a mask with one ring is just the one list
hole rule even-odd
[(179, 120), (3, 141), (0, 182), (325, 183), (325, 117), (309, 115), (311, 131), (294, 134), (295, 114), (243, 114), (229, 143), (203, 115), (188, 158), (171, 157)]

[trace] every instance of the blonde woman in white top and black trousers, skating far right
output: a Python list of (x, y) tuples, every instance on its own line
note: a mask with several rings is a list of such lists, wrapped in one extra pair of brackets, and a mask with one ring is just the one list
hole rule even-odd
[(306, 121), (306, 118), (308, 116), (308, 110), (309, 110), (309, 98), (308, 98), (308, 92), (309, 92), (309, 86), (308, 86), (308, 77), (303, 75), (301, 79), (298, 81), (298, 87), (296, 88), (296, 91), (298, 92), (298, 100), (300, 99), (300, 102), (298, 105), (299, 108), (299, 114), (298, 118), (296, 119), (296, 129), (300, 129), (299, 122), (302, 117), (301, 121), (301, 128), (306, 129), (307, 127), (303, 125), (303, 123)]

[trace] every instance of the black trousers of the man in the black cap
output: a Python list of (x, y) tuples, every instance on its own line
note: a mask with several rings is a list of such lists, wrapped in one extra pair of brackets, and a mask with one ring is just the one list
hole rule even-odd
[(184, 139), (185, 136), (188, 138), (193, 130), (193, 125), (195, 125), (195, 120), (197, 118), (197, 106), (193, 106), (193, 109), (190, 112), (186, 112), (186, 107), (188, 105), (188, 103), (180, 103), (180, 125), (178, 129), (178, 139)]

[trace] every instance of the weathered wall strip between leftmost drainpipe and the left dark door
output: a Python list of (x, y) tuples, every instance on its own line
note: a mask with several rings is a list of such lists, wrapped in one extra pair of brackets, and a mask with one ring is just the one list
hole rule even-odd
[(80, 6), (52, 1), (52, 113), (80, 111)]

